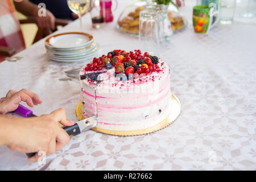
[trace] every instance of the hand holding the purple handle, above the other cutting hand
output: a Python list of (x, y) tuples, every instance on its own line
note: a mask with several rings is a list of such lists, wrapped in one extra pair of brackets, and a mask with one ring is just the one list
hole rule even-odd
[(9, 90), (6, 94), (6, 97), (0, 99), (0, 114), (6, 114), (8, 112), (14, 111), (18, 108), (19, 102), (27, 102), (27, 105), (34, 107), (34, 105), (41, 104), (39, 96), (34, 92), (31, 92), (27, 89), (19, 90)]

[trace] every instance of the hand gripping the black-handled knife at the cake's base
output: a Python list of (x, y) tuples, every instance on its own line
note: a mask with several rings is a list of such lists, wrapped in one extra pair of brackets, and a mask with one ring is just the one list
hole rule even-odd
[(63, 130), (57, 122), (64, 126), (72, 126), (73, 121), (66, 119), (64, 109), (57, 109), (51, 114), (44, 114), (40, 117), (32, 118), (12, 118), (7, 122), (6, 131), (3, 131), (5, 143), (11, 150), (32, 153), (36, 155), (28, 158), (31, 162), (36, 162), (42, 155), (53, 154), (55, 151), (61, 150), (68, 142), (69, 135)]

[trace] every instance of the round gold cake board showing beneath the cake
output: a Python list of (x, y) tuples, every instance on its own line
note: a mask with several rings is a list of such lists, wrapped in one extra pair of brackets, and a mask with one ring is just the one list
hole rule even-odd
[[(80, 120), (84, 119), (82, 117), (81, 106), (82, 106), (81, 102), (79, 102), (79, 104), (77, 104), (77, 106), (76, 106), (76, 115), (77, 115), (77, 118)], [(93, 127), (92, 130), (98, 131), (100, 133), (105, 133), (105, 134), (110, 134), (110, 135), (119, 135), (119, 136), (134, 136), (134, 135), (148, 134), (148, 133), (152, 133), (154, 131), (158, 131), (158, 130), (161, 130), (161, 129), (169, 126), (171, 123), (173, 123), (177, 119), (177, 117), (179, 117), (180, 111), (181, 111), (180, 101), (174, 94), (172, 94), (170, 114), (167, 116), (166, 119), (164, 119), (162, 122), (158, 123), (155, 126), (148, 127), (146, 129), (142, 129), (142, 130), (132, 130), (132, 131), (104, 130), (104, 129), (100, 129), (98, 127)]]

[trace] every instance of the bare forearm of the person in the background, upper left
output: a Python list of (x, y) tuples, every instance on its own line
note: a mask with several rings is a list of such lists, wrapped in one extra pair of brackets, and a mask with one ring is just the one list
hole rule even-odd
[(34, 3), (23, 0), (22, 2), (15, 2), (14, 5), (17, 11), (26, 15), (26, 16), (37, 16), (38, 15), (38, 6)]

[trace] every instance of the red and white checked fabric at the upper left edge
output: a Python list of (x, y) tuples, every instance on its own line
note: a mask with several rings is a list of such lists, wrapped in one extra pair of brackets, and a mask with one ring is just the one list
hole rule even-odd
[[(25, 48), (19, 20), (10, 0), (0, 1), (0, 46), (15, 48), (16, 52)], [(0, 56), (0, 62), (3, 59)]]

